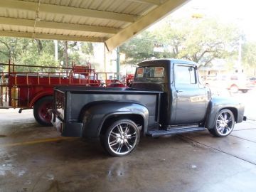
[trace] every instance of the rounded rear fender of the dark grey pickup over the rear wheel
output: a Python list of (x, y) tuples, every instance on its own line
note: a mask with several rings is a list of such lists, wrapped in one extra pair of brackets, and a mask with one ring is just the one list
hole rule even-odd
[(144, 120), (144, 132), (146, 132), (149, 122), (149, 110), (144, 105), (129, 102), (97, 102), (85, 107), (80, 114), (84, 123), (83, 137), (99, 137), (105, 120), (114, 115), (140, 115)]

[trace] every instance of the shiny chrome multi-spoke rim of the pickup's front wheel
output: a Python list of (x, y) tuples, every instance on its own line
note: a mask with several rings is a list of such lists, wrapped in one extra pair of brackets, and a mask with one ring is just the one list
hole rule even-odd
[(222, 112), (218, 115), (216, 121), (216, 130), (221, 136), (226, 136), (232, 132), (234, 128), (234, 117), (229, 112)]

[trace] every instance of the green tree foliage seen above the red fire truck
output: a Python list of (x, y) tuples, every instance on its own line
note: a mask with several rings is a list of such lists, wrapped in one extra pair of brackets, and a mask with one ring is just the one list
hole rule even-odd
[[(68, 50), (68, 67), (73, 62), (82, 65), (93, 56), (93, 45), (87, 42), (58, 41), (58, 61), (55, 61), (55, 45), (51, 40), (29, 38), (0, 38), (0, 63), (11, 62), (20, 65), (59, 66), (63, 61), (66, 66), (65, 50)], [(1, 68), (3, 70), (3, 68)], [(40, 68), (16, 68), (18, 71), (41, 71)]]

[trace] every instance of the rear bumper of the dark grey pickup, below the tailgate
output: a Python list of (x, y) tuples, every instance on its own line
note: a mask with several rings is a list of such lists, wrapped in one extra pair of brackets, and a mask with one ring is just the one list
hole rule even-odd
[(50, 110), (51, 123), (63, 137), (82, 137), (83, 124), (80, 122), (63, 122), (58, 118), (58, 111)]

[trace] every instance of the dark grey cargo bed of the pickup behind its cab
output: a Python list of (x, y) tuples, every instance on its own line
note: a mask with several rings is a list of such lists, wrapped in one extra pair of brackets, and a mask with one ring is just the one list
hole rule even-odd
[(149, 122), (155, 122), (159, 118), (161, 94), (125, 87), (59, 86), (55, 87), (55, 101), (59, 104), (55, 110), (63, 122), (79, 122), (82, 108), (92, 102), (131, 102), (144, 105), (149, 110)]

